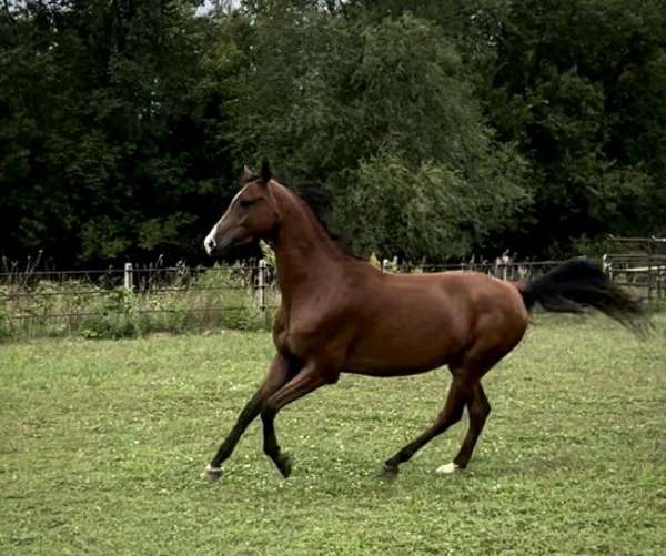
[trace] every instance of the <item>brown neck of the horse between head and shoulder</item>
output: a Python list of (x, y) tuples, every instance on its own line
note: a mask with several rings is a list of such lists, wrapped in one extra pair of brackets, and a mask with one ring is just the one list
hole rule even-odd
[(289, 305), (299, 293), (332, 277), (344, 255), (294, 193), (279, 184), (273, 192), (281, 215), (274, 240), (278, 282)]

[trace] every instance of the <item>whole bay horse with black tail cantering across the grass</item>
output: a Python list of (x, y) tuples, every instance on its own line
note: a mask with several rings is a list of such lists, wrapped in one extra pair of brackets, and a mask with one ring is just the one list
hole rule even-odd
[(640, 330), (642, 305), (613, 284), (598, 263), (578, 257), (532, 281), (512, 283), (475, 272), (384, 273), (345, 254), (309, 205), (272, 179), (245, 169), (233, 198), (203, 244), (215, 251), (265, 240), (275, 252), (282, 294), (273, 325), (276, 353), (268, 374), (238, 417), (202, 478), (215, 481), (248, 425), (261, 415), (263, 449), (284, 477), (292, 462), (275, 436), (285, 405), (341, 373), (379, 377), (424, 373), (447, 365), (452, 382), (443, 410), (413, 442), (386, 459), (382, 474), (457, 423), (468, 429), (453, 461), (437, 472), (467, 466), (491, 405), (481, 380), (523, 338), (529, 311), (578, 313), (594, 307)]

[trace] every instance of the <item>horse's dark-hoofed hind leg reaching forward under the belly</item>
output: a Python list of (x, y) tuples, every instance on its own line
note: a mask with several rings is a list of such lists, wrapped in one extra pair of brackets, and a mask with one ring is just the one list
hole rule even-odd
[(463, 416), (463, 410), (465, 403), (472, 395), (471, 385), (462, 373), (455, 374), (451, 387), (448, 388), (448, 395), (446, 396), (446, 403), (444, 408), (437, 415), (437, 418), (433, 425), (425, 431), (421, 436), (416, 437), (410, 444), (404, 446), (397, 454), (390, 459), (386, 459), (382, 474), (386, 477), (394, 477), (398, 473), (400, 464), (408, 462), (412, 456), (425, 446), (435, 436), (442, 434), (450, 426), (456, 424)]

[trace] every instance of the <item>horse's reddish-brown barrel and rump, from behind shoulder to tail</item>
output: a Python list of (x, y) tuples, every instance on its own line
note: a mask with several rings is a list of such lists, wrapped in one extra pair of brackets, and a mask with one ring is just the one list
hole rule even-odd
[(527, 325), (515, 286), (476, 273), (390, 275), (365, 306), (344, 371), (373, 376), (425, 372), (473, 348), (503, 356)]

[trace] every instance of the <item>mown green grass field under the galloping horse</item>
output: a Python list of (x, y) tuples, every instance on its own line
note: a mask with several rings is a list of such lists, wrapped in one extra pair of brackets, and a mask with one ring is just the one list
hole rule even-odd
[(283, 411), (283, 481), (253, 424), (199, 474), (261, 378), (269, 334), (0, 346), (0, 554), (666, 554), (666, 319), (639, 342), (539, 317), (486, 377), (471, 467), (381, 463), (438, 412), (444, 370), (343, 376)]

